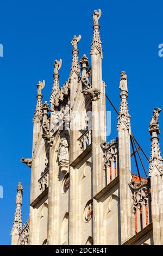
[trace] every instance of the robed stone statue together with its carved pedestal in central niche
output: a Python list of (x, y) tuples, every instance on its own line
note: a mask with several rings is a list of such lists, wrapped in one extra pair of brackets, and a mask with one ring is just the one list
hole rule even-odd
[(68, 142), (66, 137), (61, 138), (60, 146), (56, 150), (58, 152), (58, 162), (61, 172), (66, 173), (69, 166)]

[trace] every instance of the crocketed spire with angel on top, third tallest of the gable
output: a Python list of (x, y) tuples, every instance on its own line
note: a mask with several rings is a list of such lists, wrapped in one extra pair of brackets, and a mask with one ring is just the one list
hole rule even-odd
[(59, 72), (58, 70), (61, 68), (62, 65), (62, 60), (60, 59), (59, 61), (57, 59), (55, 59), (54, 62), (54, 81), (53, 81), (53, 88), (52, 88), (52, 93), (51, 93), (51, 98), (50, 98), (50, 102), (53, 103), (54, 97), (55, 95), (58, 94), (59, 91)]

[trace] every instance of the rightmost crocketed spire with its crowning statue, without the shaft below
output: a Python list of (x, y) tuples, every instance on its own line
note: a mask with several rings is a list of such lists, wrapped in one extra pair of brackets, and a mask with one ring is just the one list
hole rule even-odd
[(154, 176), (156, 173), (159, 173), (160, 175), (163, 174), (163, 162), (162, 162), (163, 160), (160, 153), (159, 138), (158, 138), (158, 134), (160, 134), (160, 130), (159, 130), (160, 112), (161, 112), (160, 108), (154, 108), (152, 120), (149, 123), (149, 133), (152, 136), (151, 158), (149, 160), (149, 176)]

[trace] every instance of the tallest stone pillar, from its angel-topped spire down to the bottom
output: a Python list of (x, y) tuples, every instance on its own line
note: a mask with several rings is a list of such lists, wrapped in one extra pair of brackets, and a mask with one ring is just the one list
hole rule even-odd
[[(99, 10), (99, 13), (101, 10)], [(103, 170), (103, 153), (101, 143), (106, 140), (105, 125), (105, 84), (102, 80), (102, 42), (99, 35), (99, 13), (93, 19), (93, 40), (91, 45), (91, 85), (87, 90), (92, 100), (92, 166), (93, 166), (93, 196), (105, 186)], [(93, 244), (98, 245), (101, 236), (98, 202), (93, 199)]]

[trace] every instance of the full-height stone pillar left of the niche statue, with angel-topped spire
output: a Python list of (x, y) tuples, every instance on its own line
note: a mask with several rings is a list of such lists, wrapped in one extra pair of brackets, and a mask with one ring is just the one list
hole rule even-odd
[[(54, 81), (51, 93), (51, 130), (53, 127), (53, 112), (55, 109), (58, 111), (59, 105), (59, 72), (62, 60), (55, 59), (54, 62)], [(55, 142), (59, 142), (60, 131), (55, 135)], [(59, 227), (59, 193), (60, 182), (58, 180), (59, 166), (57, 159), (57, 144), (53, 141), (49, 144), (49, 191), (48, 191), (48, 230), (47, 230), (47, 243), (48, 245), (59, 245), (60, 241), (60, 227)]]

